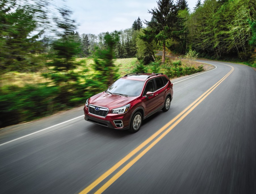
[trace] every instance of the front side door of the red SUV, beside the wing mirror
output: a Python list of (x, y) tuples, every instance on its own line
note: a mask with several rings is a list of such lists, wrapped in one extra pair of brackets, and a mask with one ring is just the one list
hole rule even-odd
[[(154, 79), (151, 79), (146, 83), (146, 87), (142, 94), (142, 101), (144, 102), (145, 116), (148, 115), (150, 112), (154, 111), (157, 107), (158, 95), (156, 96), (156, 93), (154, 91), (156, 91), (155, 81)], [(147, 92), (153, 92), (154, 94), (153, 96), (147, 97), (146, 96)]]

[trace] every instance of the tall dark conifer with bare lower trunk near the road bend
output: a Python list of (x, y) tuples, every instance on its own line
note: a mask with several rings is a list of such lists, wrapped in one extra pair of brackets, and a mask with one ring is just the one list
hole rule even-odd
[[(146, 21), (146, 24), (151, 27), (150, 33), (154, 35), (155, 39), (163, 44), (162, 63), (164, 63), (166, 40), (173, 37), (173, 33), (176, 30), (177, 10), (175, 9), (173, 0), (159, 0), (157, 5), (151, 11), (148, 10), (148, 13), (152, 14), (154, 20)], [(148, 33), (145, 32), (146, 34)]]

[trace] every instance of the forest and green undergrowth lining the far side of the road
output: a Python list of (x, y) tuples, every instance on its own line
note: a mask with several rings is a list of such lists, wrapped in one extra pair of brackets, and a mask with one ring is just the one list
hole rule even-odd
[(165, 53), (256, 67), (255, 0), (198, 0), (193, 10), (186, 0), (156, 3), (150, 21), (138, 16), (94, 35), (78, 32), (72, 10), (53, 1), (0, 0), (0, 127), (83, 104), (121, 76), (116, 58), (137, 58), (129, 71), (170, 78), (203, 69)]

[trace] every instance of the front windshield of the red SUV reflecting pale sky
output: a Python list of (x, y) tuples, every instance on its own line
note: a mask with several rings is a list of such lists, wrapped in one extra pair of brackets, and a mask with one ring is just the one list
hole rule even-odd
[(143, 85), (144, 85), (144, 81), (118, 79), (108, 88), (107, 91), (112, 94), (139, 96)]

